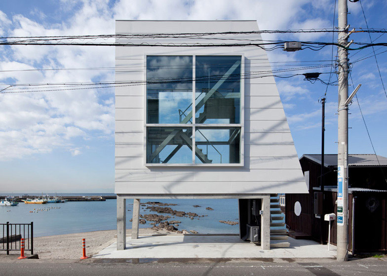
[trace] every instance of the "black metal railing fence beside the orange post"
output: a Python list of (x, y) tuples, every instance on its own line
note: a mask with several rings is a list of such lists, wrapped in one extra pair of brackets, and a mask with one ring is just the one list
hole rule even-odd
[[(34, 254), (34, 222), (31, 223), (0, 223), (0, 251), (20, 251), (21, 239), (24, 239), (24, 250)], [(1, 238), (2, 237), (2, 238)]]

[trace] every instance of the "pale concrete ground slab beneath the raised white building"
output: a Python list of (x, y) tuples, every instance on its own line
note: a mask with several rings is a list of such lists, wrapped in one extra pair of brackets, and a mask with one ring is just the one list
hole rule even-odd
[(309, 240), (289, 238), (290, 246), (262, 250), (239, 236), (167, 235), (126, 238), (126, 249), (117, 250), (117, 243), (101, 250), (93, 258), (335, 258), (336, 246), (321, 245)]

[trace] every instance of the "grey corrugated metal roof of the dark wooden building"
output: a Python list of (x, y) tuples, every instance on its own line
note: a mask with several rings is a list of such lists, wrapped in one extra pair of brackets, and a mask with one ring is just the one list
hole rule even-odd
[[(321, 154), (304, 154), (301, 158), (303, 157), (321, 164)], [(324, 167), (329, 166), (337, 166), (337, 154), (324, 155)], [(378, 155), (377, 159), (375, 154), (350, 154), (348, 166), (387, 166), (387, 158)]]

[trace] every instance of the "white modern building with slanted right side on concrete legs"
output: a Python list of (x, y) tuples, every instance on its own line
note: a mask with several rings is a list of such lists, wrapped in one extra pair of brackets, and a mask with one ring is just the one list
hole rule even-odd
[(308, 192), (274, 78), (262, 77), (266, 51), (237, 45), (261, 36), (229, 34), (251, 31), (256, 21), (116, 21), (133, 35), (116, 47), (117, 249), (126, 199), (132, 238), (141, 199), (257, 200), (269, 249), (270, 194)]

